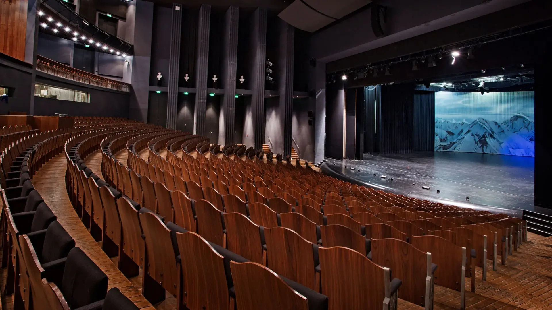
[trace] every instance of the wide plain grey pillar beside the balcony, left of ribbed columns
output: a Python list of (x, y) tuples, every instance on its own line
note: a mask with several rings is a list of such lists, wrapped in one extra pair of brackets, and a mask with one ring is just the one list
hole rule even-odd
[[(153, 2), (144, 0), (132, 2), (134, 2), (135, 6), (135, 19), (133, 31), (128, 31), (128, 33), (134, 35), (129, 116), (130, 119), (147, 122)], [(129, 5), (132, 5), (132, 2)]]

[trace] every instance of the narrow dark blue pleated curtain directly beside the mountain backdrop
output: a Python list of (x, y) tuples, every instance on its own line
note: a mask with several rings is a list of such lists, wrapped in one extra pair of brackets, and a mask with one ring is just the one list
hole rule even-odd
[(414, 151), (435, 149), (435, 93), (414, 92)]

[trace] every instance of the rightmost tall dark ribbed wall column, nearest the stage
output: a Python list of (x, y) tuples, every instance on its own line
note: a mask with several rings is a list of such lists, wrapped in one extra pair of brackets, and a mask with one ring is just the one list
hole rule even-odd
[(280, 30), (280, 111), (284, 120), (284, 156), (291, 155), (291, 117), (293, 114), (293, 58), (295, 28), (279, 19)]

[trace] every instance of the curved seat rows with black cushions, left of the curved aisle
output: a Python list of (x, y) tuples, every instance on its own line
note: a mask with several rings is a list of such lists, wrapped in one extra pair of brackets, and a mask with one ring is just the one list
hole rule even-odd
[[(134, 307), (117, 288), (107, 291), (108, 277), (82, 249), (75, 247), (75, 240), (57, 222), (33, 185), (36, 172), (62, 152), (68, 140), (95, 136), (97, 132), (87, 127), (29, 130), (10, 140), (3, 149), (2, 226), (7, 233), (3, 235), (2, 265), (8, 267), (4, 294), (14, 295), (14, 309)], [(75, 157), (77, 148), (66, 151)]]

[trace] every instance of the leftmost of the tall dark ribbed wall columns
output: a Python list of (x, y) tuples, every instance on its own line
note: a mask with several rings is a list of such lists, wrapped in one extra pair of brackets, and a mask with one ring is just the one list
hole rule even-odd
[(167, 99), (167, 128), (176, 129), (176, 106), (178, 104), (178, 68), (180, 66), (180, 34), (182, 29), (182, 6), (173, 4), (171, 23), (171, 50), (169, 54), (169, 79)]

